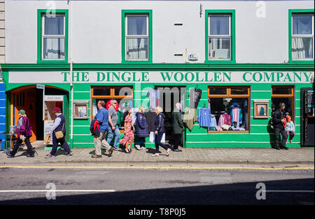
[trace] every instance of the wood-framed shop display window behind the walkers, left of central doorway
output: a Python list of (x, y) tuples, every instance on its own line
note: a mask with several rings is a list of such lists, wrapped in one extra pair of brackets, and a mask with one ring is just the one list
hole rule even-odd
[(93, 86), (91, 88), (91, 108), (92, 108), (92, 120), (94, 119), (97, 111), (98, 101), (105, 101), (106, 106), (109, 106), (112, 99), (116, 99), (118, 102), (118, 127), (124, 129), (123, 114), (125, 109), (129, 106), (133, 108), (134, 96), (132, 86)]

